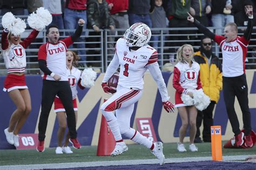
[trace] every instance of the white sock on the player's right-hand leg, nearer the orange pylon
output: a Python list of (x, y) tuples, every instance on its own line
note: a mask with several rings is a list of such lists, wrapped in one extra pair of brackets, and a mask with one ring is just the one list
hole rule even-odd
[[(134, 135), (135, 134), (135, 135)], [(125, 137), (130, 138), (131, 140), (135, 141), (136, 143), (146, 146), (147, 148), (151, 148), (153, 143), (149, 139), (147, 139), (145, 136), (140, 134), (135, 129), (130, 128), (129, 131), (125, 132), (123, 134)]]

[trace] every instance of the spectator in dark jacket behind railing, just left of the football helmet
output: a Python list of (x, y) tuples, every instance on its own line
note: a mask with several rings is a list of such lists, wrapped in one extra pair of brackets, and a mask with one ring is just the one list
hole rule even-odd
[[(105, 0), (91, 0), (87, 2), (87, 18), (88, 29), (93, 29), (95, 32), (90, 32), (91, 36), (99, 35), (100, 29), (110, 29), (109, 34), (114, 34), (114, 20), (110, 15), (109, 4)], [(110, 40), (110, 39), (109, 39)], [(90, 41), (98, 41), (97, 38), (91, 38)], [(95, 48), (95, 44), (90, 45), (90, 48)], [(107, 54), (114, 54), (114, 44), (107, 44), (109, 50)], [(111, 48), (111, 49), (110, 49)], [(95, 52), (93, 52), (95, 54)], [(109, 55), (108, 55), (109, 56)], [(111, 60), (112, 56), (109, 56)], [(90, 60), (99, 60), (99, 58), (92, 57)]]

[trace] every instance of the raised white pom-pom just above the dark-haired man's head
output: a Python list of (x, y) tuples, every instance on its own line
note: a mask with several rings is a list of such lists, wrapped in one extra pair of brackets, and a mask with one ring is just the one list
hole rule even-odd
[(28, 24), (32, 29), (42, 31), (45, 26), (48, 26), (52, 22), (51, 13), (43, 7), (38, 8), (36, 13), (33, 12), (28, 17)]

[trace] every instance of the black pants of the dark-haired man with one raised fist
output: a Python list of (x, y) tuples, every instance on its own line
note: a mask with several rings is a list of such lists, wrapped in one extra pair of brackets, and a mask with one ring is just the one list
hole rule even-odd
[(42, 108), (38, 124), (38, 139), (44, 140), (48, 117), (55, 96), (58, 95), (66, 111), (70, 138), (77, 138), (76, 116), (73, 109), (72, 92), (68, 81), (43, 80)]

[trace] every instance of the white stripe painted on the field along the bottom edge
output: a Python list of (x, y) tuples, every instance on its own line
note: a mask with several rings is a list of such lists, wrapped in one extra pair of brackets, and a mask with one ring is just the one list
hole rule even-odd
[[(245, 160), (248, 155), (224, 156), (223, 161)], [(212, 157), (188, 157), (188, 158), (167, 158), (165, 164), (178, 162), (209, 161)], [(0, 169), (57, 169), (57, 168), (79, 168), (79, 167), (97, 167), (97, 166), (121, 166), (121, 165), (142, 165), (159, 164), (157, 159), (137, 159), (137, 160), (117, 160), (117, 161), (93, 161), (93, 162), (69, 162), (60, 164), (35, 164), (35, 165), (5, 165)], [(246, 162), (246, 161), (244, 161)]]

